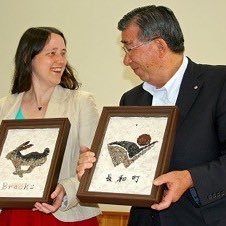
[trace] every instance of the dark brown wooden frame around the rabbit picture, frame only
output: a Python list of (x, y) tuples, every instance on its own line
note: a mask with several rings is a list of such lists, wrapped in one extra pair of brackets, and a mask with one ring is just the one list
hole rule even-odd
[[(35, 202), (51, 203), (51, 193), (54, 191), (60, 168), (64, 156), (67, 138), (70, 130), (68, 118), (49, 118), (49, 119), (26, 119), (26, 120), (3, 120), (0, 126), (0, 157), (1, 152), (10, 129), (48, 129), (59, 128), (55, 149), (52, 155), (51, 164), (43, 192), (40, 197), (0, 197), (0, 208), (32, 208)], [(1, 166), (0, 166), (1, 169)], [(1, 171), (1, 170), (0, 170)], [(7, 175), (6, 175), (7, 177)], [(19, 177), (18, 177), (19, 178)], [(1, 191), (0, 191), (1, 192)]]

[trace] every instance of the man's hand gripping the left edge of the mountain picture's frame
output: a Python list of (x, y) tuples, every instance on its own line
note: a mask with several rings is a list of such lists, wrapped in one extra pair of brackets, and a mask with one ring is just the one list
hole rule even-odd
[(79, 181), (81, 180), (82, 175), (85, 173), (85, 170), (90, 169), (95, 161), (95, 154), (90, 151), (89, 148), (81, 146), (78, 165), (76, 169)]

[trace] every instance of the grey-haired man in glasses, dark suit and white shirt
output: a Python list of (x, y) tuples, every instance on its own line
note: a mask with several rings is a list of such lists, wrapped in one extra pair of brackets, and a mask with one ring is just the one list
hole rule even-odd
[[(124, 93), (120, 105), (177, 105), (180, 111), (170, 170), (154, 180), (166, 187), (162, 201), (132, 207), (128, 225), (226, 226), (226, 67), (187, 58), (180, 25), (166, 7), (134, 9), (118, 29), (124, 64), (144, 81)], [(93, 154), (84, 156), (79, 177), (94, 161)]]

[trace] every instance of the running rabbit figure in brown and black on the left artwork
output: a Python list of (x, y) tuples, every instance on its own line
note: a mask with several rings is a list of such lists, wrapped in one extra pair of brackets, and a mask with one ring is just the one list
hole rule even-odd
[[(35, 167), (41, 166), (46, 162), (47, 156), (50, 152), (49, 148), (45, 148), (43, 152), (36, 151), (26, 155), (21, 154), (22, 150), (28, 149), (32, 146), (33, 144), (30, 144), (30, 141), (26, 141), (6, 155), (6, 159), (11, 160), (15, 167), (13, 174), (23, 177), (23, 174), (31, 173)], [(28, 166), (28, 169), (22, 170), (22, 166)]]

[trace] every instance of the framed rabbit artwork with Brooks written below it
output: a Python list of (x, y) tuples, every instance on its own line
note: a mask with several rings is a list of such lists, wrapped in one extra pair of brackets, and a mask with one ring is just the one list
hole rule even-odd
[(2, 121), (0, 208), (51, 203), (69, 130), (67, 118)]

